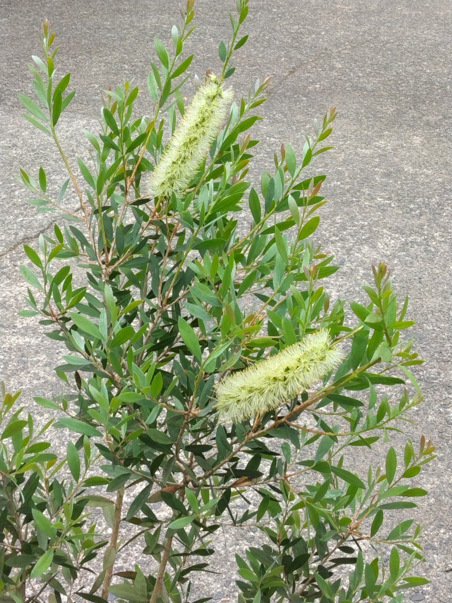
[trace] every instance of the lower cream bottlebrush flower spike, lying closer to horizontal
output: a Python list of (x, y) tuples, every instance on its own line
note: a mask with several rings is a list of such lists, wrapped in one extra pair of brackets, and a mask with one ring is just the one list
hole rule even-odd
[(223, 423), (239, 423), (297, 397), (344, 358), (327, 329), (306, 335), (282, 352), (237, 371), (216, 385), (216, 409)]

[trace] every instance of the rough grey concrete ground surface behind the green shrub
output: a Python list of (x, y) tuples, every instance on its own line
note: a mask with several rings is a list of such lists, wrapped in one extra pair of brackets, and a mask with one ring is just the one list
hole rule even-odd
[[(218, 69), (219, 40), (228, 35), (232, 2), (196, 0), (198, 28), (190, 42), (193, 72)], [(62, 350), (44, 336), (33, 318), (21, 319), (25, 285), (22, 243), (36, 241), (58, 216), (38, 214), (14, 180), (20, 165), (48, 169), (49, 186), (63, 181), (63, 169), (45, 136), (21, 116), (17, 92), (31, 90), (27, 63), (37, 54), (43, 17), (61, 44), (60, 62), (71, 71), (77, 97), (59, 125), (72, 159), (85, 148), (82, 128), (96, 130), (99, 92), (134, 80), (143, 89), (155, 34), (166, 43), (178, 22), (176, 0), (0, 0), (0, 377), (32, 396), (57, 391), (53, 373)], [(372, 262), (385, 260), (401, 294), (409, 294), (410, 317), (425, 365), (417, 374), (425, 402), (412, 413), (413, 440), (433, 437), (439, 458), (418, 476), (430, 490), (419, 502), (424, 524), (425, 575), (432, 584), (407, 601), (452, 601), (451, 498), (451, 40), (450, 0), (251, 0), (234, 87), (274, 76), (256, 175), (271, 165), (281, 142), (303, 147), (303, 131), (329, 106), (337, 106), (333, 142), (318, 171), (328, 174), (330, 203), (322, 208), (316, 239), (336, 253), (342, 270), (334, 294), (363, 301)], [(81, 146), (83, 145), (83, 146)], [(36, 410), (35, 410), (36, 412)], [(401, 443), (401, 439), (398, 440)], [(246, 545), (243, 534), (228, 535), (222, 567), (199, 586), (216, 598), (236, 598), (230, 554)]]

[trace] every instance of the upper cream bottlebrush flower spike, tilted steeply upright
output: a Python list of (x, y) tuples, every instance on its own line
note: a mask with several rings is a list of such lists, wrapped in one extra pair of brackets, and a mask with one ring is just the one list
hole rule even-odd
[(187, 188), (218, 136), (232, 99), (232, 89), (225, 90), (215, 76), (199, 87), (151, 174), (152, 196), (169, 198)]

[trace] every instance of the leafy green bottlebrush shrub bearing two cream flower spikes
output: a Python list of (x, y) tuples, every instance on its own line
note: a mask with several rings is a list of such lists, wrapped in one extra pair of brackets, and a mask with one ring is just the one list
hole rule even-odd
[[(326, 202), (312, 165), (331, 148), (335, 109), (299, 157), (283, 144), (260, 185), (246, 180), (270, 80), (233, 100), (247, 0), (237, 8), (220, 68), (185, 106), (189, 0), (174, 48), (155, 38), (151, 116), (135, 114), (129, 82), (107, 90), (99, 133), (86, 131), (91, 159), (78, 166), (60, 139), (70, 74), (60, 79), (44, 24), (37, 98), (20, 99), (69, 177), (56, 199), (45, 168), (21, 178), (31, 204), (63, 210), (66, 223), (25, 247), (34, 267), (22, 268), (21, 314), (40, 315), (67, 348), (56, 369), (64, 395), (36, 402), (72, 435), (72, 482), (64, 459), (30, 457), (30, 419), (11, 415), (0, 517), (2, 589), (14, 601), (209, 601), (193, 575), (218, 569), (209, 561), (223, 526), (260, 530), (259, 546), (236, 556), (242, 603), (402, 601), (427, 582), (412, 575), (423, 557), (407, 510), (426, 494), (412, 480), (434, 447), (388, 443), (422, 399), (407, 300), (385, 264), (347, 320), (345, 301), (330, 305), (321, 285), (337, 267), (312, 240)], [(65, 202), (74, 195), (77, 207)], [(149, 564), (133, 566), (130, 549)]]

